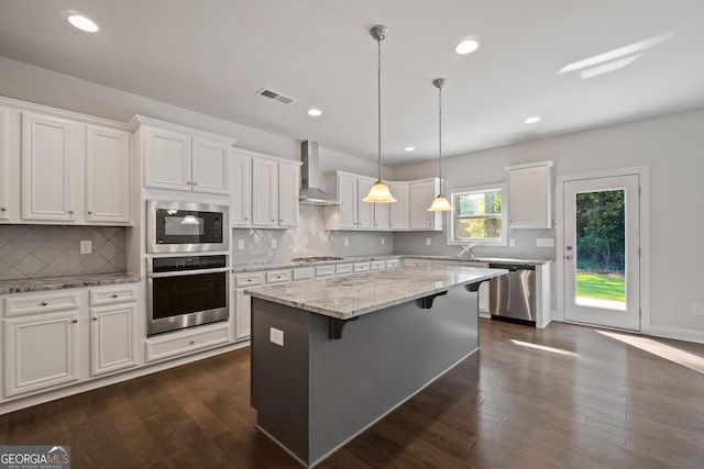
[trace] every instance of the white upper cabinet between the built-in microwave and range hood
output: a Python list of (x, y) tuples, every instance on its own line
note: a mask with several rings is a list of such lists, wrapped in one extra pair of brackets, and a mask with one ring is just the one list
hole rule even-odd
[[(249, 152), (251, 160), (251, 205), (237, 209), (240, 223), (235, 226), (289, 228), (298, 226), (298, 192), (300, 163), (286, 161), (263, 154)], [(242, 156), (245, 155), (244, 153)], [(246, 170), (246, 163), (240, 163)], [(246, 188), (233, 194), (232, 204), (246, 203)], [(239, 200), (238, 200), (239, 199)], [(251, 206), (251, 209), (250, 209)], [(246, 223), (246, 211), (251, 210), (251, 223)]]

